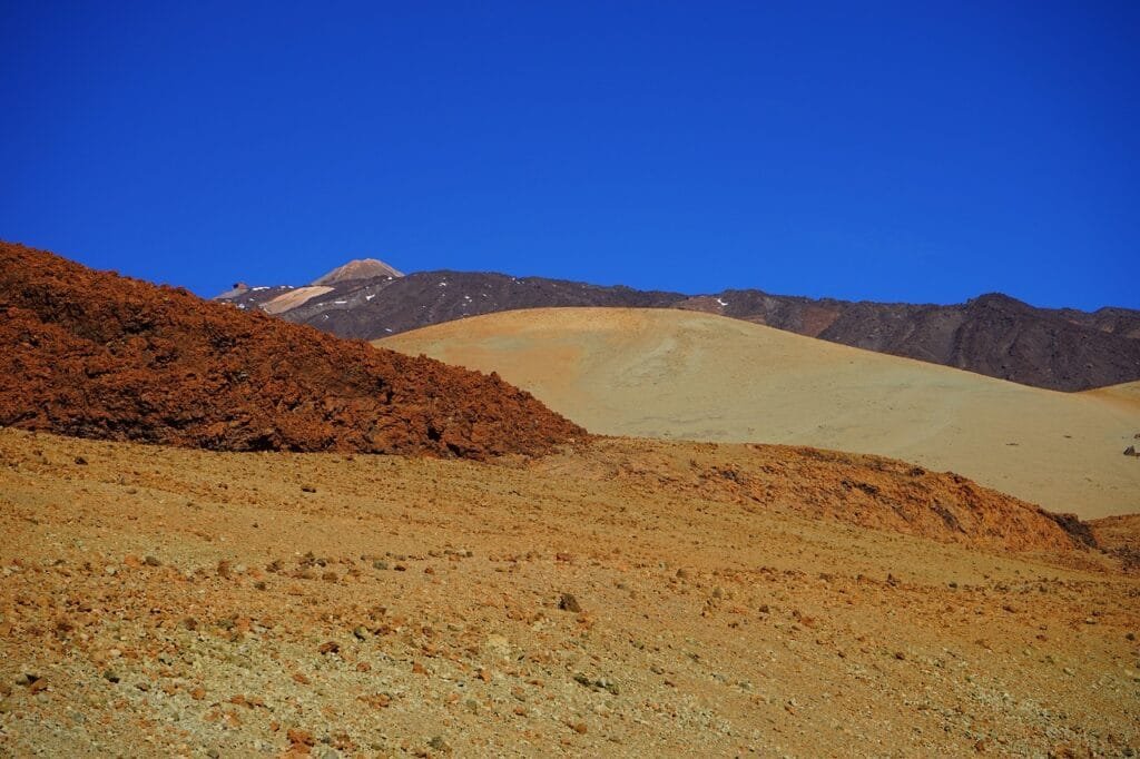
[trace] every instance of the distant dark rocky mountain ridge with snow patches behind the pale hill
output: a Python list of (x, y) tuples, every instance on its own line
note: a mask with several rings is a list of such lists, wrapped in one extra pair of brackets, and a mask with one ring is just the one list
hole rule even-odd
[[(678, 308), (1050, 390), (1140, 379), (1140, 311), (1121, 308), (1091, 313), (1041, 309), (1001, 294), (921, 305), (814, 300), (758, 289), (691, 296), (487, 272), (361, 275), (326, 276), (308, 287), (241, 288), (219, 299), (361, 340), (514, 309)], [(321, 281), (326, 284), (315, 286)]]

